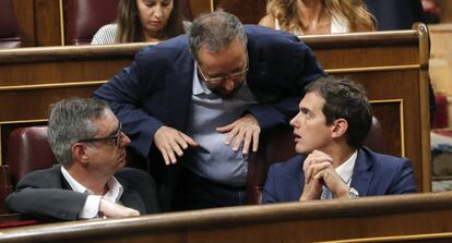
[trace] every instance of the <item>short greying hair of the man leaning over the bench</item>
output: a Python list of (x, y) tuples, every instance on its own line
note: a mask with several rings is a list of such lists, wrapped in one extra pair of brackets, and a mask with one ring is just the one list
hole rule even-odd
[(198, 51), (206, 45), (209, 51), (215, 52), (238, 37), (247, 46), (247, 34), (239, 19), (222, 10), (202, 14), (188, 27), (190, 51), (198, 60)]

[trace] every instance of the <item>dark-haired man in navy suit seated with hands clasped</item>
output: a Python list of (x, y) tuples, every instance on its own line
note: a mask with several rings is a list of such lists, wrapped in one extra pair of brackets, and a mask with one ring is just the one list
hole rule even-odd
[(362, 147), (372, 114), (360, 85), (324, 77), (305, 90), (290, 121), (301, 155), (270, 167), (263, 204), (416, 192), (407, 159)]

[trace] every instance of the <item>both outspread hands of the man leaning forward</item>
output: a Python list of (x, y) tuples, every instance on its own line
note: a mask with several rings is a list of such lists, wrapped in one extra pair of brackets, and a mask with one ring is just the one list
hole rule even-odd
[[(258, 120), (250, 113), (230, 124), (216, 127), (216, 132), (227, 133), (225, 145), (233, 144), (234, 151), (238, 151), (240, 145), (243, 145), (242, 154), (247, 155), (251, 144), (252, 151), (258, 150), (261, 127), (259, 126)], [(177, 157), (182, 157), (183, 150), (189, 146), (199, 146), (199, 144), (187, 134), (166, 125), (160, 126), (155, 132), (154, 143), (162, 153), (167, 166), (176, 163)]]

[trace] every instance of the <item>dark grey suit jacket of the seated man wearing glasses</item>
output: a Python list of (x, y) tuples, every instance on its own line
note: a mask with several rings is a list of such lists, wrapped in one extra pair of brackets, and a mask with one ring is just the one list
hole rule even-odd
[[(123, 193), (120, 202), (141, 215), (158, 212), (155, 182), (138, 169), (124, 168), (115, 174)], [(11, 212), (22, 212), (40, 219), (76, 220), (87, 195), (71, 190), (61, 173), (61, 166), (37, 170), (25, 175), (5, 201)]]

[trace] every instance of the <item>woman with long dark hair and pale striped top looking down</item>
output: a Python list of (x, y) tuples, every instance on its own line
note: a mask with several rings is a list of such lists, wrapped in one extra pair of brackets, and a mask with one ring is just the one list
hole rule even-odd
[(183, 34), (181, 0), (120, 0), (116, 23), (99, 28), (92, 44), (160, 41)]

